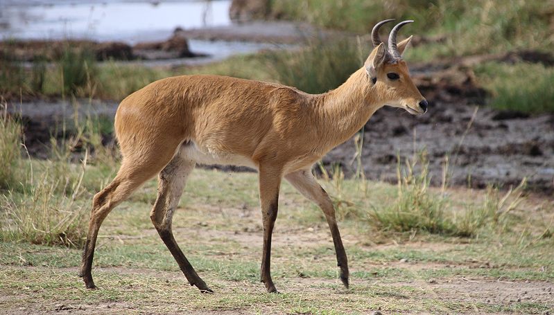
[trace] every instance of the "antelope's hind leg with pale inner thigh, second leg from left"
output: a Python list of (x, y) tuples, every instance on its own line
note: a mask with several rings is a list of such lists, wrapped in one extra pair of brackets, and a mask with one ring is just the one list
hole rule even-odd
[(187, 177), (194, 169), (194, 165), (195, 163), (193, 161), (183, 159), (182, 156), (177, 155), (169, 162), (164, 170), (159, 173), (158, 196), (154, 208), (152, 212), (150, 212), (150, 219), (152, 219), (159, 237), (161, 237), (164, 244), (166, 244), (189, 283), (191, 285), (196, 285), (203, 293), (212, 293), (214, 291), (211, 291), (211, 289), (207, 287), (206, 283), (198, 276), (189, 260), (184, 256), (171, 230), (173, 213), (179, 204), (179, 199), (181, 198)]

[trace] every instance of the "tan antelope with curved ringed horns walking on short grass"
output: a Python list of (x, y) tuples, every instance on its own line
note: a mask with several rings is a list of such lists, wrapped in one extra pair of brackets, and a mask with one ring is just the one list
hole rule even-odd
[(397, 44), (392, 28), (388, 50), (372, 30), (373, 51), (364, 66), (340, 87), (311, 95), (280, 84), (216, 75), (182, 75), (148, 84), (125, 98), (115, 116), (123, 161), (115, 179), (94, 196), (80, 276), (87, 288), (98, 229), (114, 206), (158, 174), (158, 195), (150, 219), (191, 285), (212, 292), (179, 248), (171, 219), (187, 181), (201, 164), (245, 165), (259, 172), (263, 217), (261, 281), (277, 292), (270, 275), (271, 234), (282, 178), (323, 210), (336, 251), (340, 279), (348, 287), (348, 263), (335, 210), (314, 179), (312, 165), (352, 137), (383, 105), (424, 114), (401, 55), (411, 37)]

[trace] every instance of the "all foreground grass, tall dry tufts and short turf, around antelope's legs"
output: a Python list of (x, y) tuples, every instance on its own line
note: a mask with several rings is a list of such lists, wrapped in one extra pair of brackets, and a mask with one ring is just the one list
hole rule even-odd
[[(349, 290), (337, 280), (322, 212), (284, 183), (272, 251), (273, 278), (284, 293), (263, 293), (259, 284), (261, 213), (256, 174), (212, 170), (191, 174), (180, 202), (184, 210), (175, 214), (173, 226), (180, 246), (216, 294), (201, 295), (189, 287), (159, 240), (148, 215), (156, 196), (154, 180), (105, 220), (94, 269), (101, 289), (84, 290), (76, 269), (90, 197), (117, 168), (117, 161), (109, 154), (96, 158), (96, 163), (85, 159), (93, 151), (91, 145), (98, 145), (98, 133), (110, 131), (110, 124), (103, 119), (87, 118), (83, 124), (77, 123), (83, 127), (67, 141), (54, 145), (56, 153), (51, 161), (24, 163), (32, 166), (34, 178), (20, 179), (24, 183), (21, 190), (2, 190), (0, 293), (8, 312), (24, 307), (28, 312), (367, 314), (381, 309), (389, 313), (458, 314), (532, 313), (553, 307), (540, 297), (518, 302), (517, 292), (512, 293), (512, 302), (452, 298), (485, 291), (490, 295), (487, 284), (496, 280), (507, 283), (505, 289), (512, 287), (512, 282), (526, 288), (523, 280), (527, 280), (530, 288), (542, 286), (546, 290), (548, 285), (543, 283), (554, 280), (553, 237), (544, 233), (552, 228), (548, 226), (554, 219), (551, 205), (539, 204), (542, 208), (526, 212), (527, 201), (513, 204), (492, 188), (490, 192), (464, 190), (458, 194), (446, 190), (440, 195), (427, 185), (424, 169), (421, 172), (413, 164), (407, 165), (407, 172), (400, 172), (399, 186), (365, 181), (363, 177), (345, 179), (340, 168), (322, 179), (338, 208), (352, 271)], [(87, 150), (81, 153), (80, 163), (71, 162), (76, 154), (71, 148), (79, 142)], [(94, 152), (98, 152), (96, 146)], [(435, 197), (448, 202), (439, 199), (441, 207), (429, 212), (426, 207), (436, 206)], [(413, 204), (419, 206), (415, 207), (419, 213), (410, 217), (378, 222), (370, 215), (374, 209), (410, 210)], [(484, 228), (488, 233), (472, 237), (436, 233), (440, 231), (430, 227), (437, 224), (415, 221), (447, 222), (456, 213), (483, 206), (488, 210), (480, 222), (495, 218), (501, 222), (505, 216), (499, 214), (508, 212), (518, 219), (507, 222), (510, 228), (478, 224), (480, 232)], [(384, 222), (399, 224), (402, 220), (416, 223), (399, 228), (405, 231), (400, 234), (383, 233)], [(64, 246), (52, 246), (57, 244)], [(479, 291), (480, 287), (463, 291), (464, 279), (483, 286), (484, 291)], [(436, 285), (429, 285), (431, 281)], [(452, 286), (462, 291), (453, 294)]]

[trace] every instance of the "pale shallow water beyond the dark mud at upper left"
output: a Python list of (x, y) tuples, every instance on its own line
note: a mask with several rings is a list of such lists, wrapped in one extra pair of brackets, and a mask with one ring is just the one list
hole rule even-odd
[[(129, 44), (163, 40), (175, 28), (230, 26), (230, 0), (0, 0), (0, 39), (66, 39), (123, 41)], [(189, 41), (191, 51), (209, 57), (173, 60), (171, 64), (221, 60), (254, 53), (270, 44)], [(153, 64), (167, 64), (162, 60)]]

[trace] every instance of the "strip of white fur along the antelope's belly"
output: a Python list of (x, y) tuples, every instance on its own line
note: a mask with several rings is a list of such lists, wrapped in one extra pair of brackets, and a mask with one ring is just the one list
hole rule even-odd
[(182, 145), (181, 153), (187, 158), (204, 165), (236, 165), (248, 166), (257, 169), (257, 165), (246, 156), (225, 152), (211, 152), (205, 147), (198, 147), (196, 143)]

